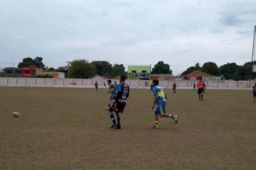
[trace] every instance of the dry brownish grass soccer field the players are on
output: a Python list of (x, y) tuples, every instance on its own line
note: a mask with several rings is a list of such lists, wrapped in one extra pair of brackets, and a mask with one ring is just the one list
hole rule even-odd
[[(256, 169), (251, 90), (166, 90), (152, 129), (153, 95), (131, 89), (121, 130), (109, 129), (107, 89), (0, 87), (0, 169)], [(12, 113), (19, 112), (19, 118)]]

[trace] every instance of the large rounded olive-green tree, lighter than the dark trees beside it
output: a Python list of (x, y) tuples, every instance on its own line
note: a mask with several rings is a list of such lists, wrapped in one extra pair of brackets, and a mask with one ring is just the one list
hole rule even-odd
[(70, 78), (89, 79), (96, 74), (95, 65), (87, 60), (74, 60), (70, 63)]

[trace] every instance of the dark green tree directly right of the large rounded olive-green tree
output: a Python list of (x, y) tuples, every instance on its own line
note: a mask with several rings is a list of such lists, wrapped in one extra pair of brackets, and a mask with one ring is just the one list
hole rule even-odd
[(107, 61), (93, 61), (91, 62), (96, 68), (98, 75), (110, 77), (112, 71), (112, 65)]

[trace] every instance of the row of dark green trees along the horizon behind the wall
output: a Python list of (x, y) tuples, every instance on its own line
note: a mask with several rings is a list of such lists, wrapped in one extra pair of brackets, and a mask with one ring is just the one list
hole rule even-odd
[[(254, 63), (256, 64), (256, 62)], [(244, 65), (237, 65), (236, 63), (227, 63), (220, 67), (214, 62), (206, 62), (200, 66), (199, 63), (195, 66), (187, 68), (181, 75), (188, 74), (195, 70), (200, 70), (208, 74), (215, 76), (223, 75), (226, 79), (233, 80), (248, 80), (252, 78), (252, 62), (247, 62)], [(42, 57), (26, 57), (18, 64), (18, 67), (34, 66), (45, 70)], [(92, 61), (89, 62), (84, 59), (76, 59), (69, 63), (69, 66), (61, 66), (58, 69), (48, 68), (48, 71), (68, 71), (70, 78), (84, 78), (88, 79), (94, 77), (96, 74), (102, 75), (108, 78), (113, 78), (120, 74), (125, 74), (125, 67), (123, 64), (110, 64), (108, 61)], [(159, 61), (152, 68), (151, 74), (172, 74), (170, 65)]]

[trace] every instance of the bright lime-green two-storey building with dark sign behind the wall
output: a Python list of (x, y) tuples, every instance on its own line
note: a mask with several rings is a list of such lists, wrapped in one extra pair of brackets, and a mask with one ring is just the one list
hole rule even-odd
[(150, 66), (128, 66), (128, 80), (149, 80), (151, 65)]

